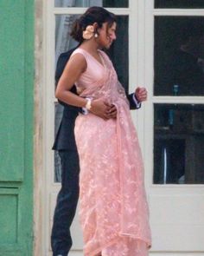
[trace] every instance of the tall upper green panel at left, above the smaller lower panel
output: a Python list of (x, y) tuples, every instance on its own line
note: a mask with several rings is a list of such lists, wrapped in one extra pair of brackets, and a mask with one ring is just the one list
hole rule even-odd
[(0, 181), (23, 180), (24, 1), (0, 2)]

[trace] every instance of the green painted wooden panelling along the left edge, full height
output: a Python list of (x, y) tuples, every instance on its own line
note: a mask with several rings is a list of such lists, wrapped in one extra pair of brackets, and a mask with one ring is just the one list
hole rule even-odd
[(33, 255), (34, 0), (0, 1), (0, 255)]

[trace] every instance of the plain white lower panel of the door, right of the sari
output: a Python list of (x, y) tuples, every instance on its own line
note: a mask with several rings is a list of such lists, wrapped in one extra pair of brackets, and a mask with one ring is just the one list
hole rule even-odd
[(204, 251), (203, 194), (151, 194), (153, 249), (162, 252)]

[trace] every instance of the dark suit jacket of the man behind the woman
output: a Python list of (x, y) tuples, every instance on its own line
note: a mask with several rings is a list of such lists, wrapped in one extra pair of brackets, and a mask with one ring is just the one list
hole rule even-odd
[[(55, 85), (57, 85), (58, 81), (60, 80), (62, 72), (65, 69), (67, 61), (69, 57), (72, 55), (74, 49), (70, 49), (69, 51), (62, 53), (61, 56), (59, 57), (57, 62), (56, 72), (55, 72)], [(77, 94), (76, 87), (74, 85), (71, 91), (74, 94)], [(127, 95), (127, 98), (130, 102), (130, 108), (136, 109), (137, 106), (133, 100), (132, 95), (133, 94)], [(58, 101), (58, 102), (64, 106), (64, 110), (61, 118), (61, 124), (57, 131), (57, 135), (55, 137), (53, 149), (54, 150), (77, 150), (73, 131), (74, 131), (75, 119), (79, 114), (79, 112), (81, 112), (81, 108), (73, 107), (71, 105), (68, 105), (65, 102), (61, 102), (61, 101)]]

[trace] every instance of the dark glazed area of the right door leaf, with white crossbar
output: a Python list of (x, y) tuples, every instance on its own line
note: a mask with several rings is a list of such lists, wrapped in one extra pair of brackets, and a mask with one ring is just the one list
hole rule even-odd
[[(201, 8), (203, 1), (155, 1)], [(154, 184), (203, 184), (204, 17), (154, 10)]]

